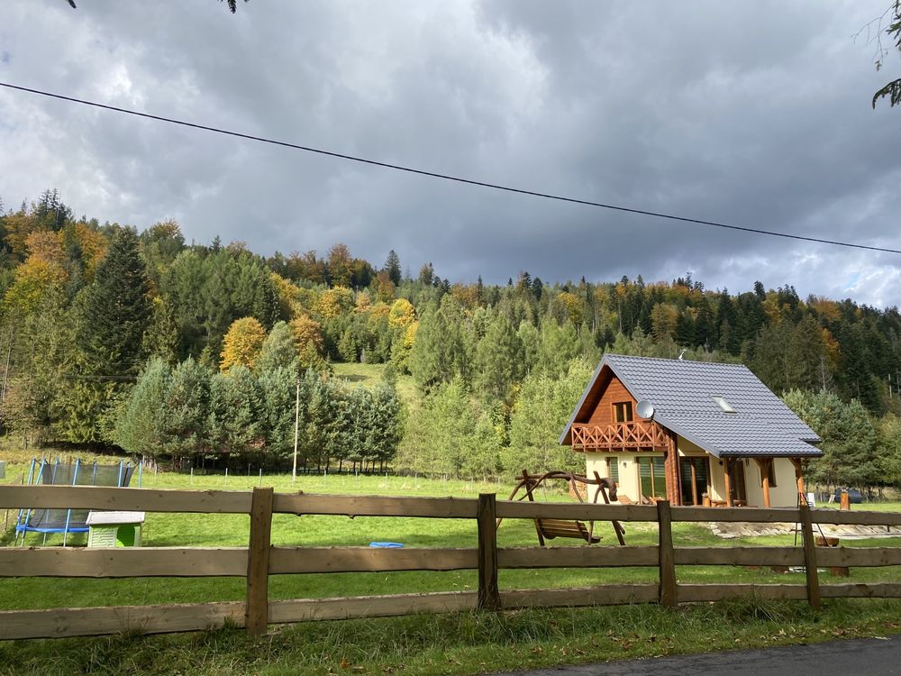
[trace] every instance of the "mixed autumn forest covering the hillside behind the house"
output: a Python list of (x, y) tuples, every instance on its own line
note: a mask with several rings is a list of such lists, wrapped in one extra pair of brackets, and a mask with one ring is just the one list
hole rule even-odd
[[(824, 438), (826, 485), (901, 485), (901, 315), (795, 288), (672, 280), (451, 283), (335, 243), (265, 257), (0, 202), (0, 419), (26, 447), (181, 465), (455, 477), (578, 468), (560, 429), (605, 351), (746, 364)], [(493, 275), (496, 277), (496, 275)], [(333, 374), (384, 364), (375, 388)], [(412, 379), (415, 396), (398, 395)]]

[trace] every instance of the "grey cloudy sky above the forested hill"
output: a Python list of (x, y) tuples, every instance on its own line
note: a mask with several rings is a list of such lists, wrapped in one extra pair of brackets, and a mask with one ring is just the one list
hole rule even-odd
[[(4, 0), (0, 81), (562, 196), (901, 249), (888, 0)], [(901, 302), (901, 255), (498, 193), (0, 87), (0, 197), (414, 274), (794, 284)]]

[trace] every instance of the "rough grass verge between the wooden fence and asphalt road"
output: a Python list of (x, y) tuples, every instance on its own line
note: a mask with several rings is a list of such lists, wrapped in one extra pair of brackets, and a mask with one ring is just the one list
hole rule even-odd
[(669, 609), (627, 606), (455, 613), (275, 627), (0, 644), (0, 673), (474, 674), (560, 663), (816, 643), (901, 631), (901, 603), (836, 600), (820, 612), (755, 599)]

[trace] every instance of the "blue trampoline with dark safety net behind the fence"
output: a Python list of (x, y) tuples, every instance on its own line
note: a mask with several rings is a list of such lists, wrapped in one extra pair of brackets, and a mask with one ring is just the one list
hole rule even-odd
[[(134, 467), (130, 462), (120, 461), (114, 465), (100, 465), (82, 463), (77, 460), (74, 463), (60, 463), (32, 460), (31, 469), (28, 472), (28, 483), (32, 486), (111, 486), (124, 488), (132, 480)], [(138, 472), (138, 487), (141, 487), (141, 472)], [(65, 547), (70, 533), (87, 533), (87, 515), (90, 509), (20, 509), (15, 523), (15, 538), (18, 541), (22, 535), (20, 545), (25, 544), (25, 535), (29, 533), (42, 533), (44, 543), (47, 535), (62, 534), (62, 544)], [(16, 544), (14, 541), (14, 544)]]

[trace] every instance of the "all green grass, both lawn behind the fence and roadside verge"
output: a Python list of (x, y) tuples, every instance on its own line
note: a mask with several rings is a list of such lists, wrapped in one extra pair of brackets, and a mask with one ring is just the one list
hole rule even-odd
[[(11, 464), (7, 478), (25, 467)], [(259, 476), (195, 476), (144, 473), (147, 488), (246, 490)], [(510, 489), (501, 483), (425, 480), (394, 476), (264, 477), (279, 491), (315, 493), (469, 497)], [(562, 491), (542, 496), (567, 499)], [(855, 506), (856, 507), (856, 506)], [(901, 506), (887, 506), (901, 509)], [(603, 544), (614, 544), (607, 524), (598, 524)], [(627, 525), (628, 544), (655, 544), (652, 524)], [(241, 515), (149, 514), (148, 546), (227, 546), (247, 543), (249, 518)], [(83, 542), (83, 536), (82, 542)], [(723, 541), (704, 525), (674, 527), (678, 545), (792, 544), (792, 537), (770, 536)], [(32, 535), (30, 543), (39, 536)], [(6, 534), (5, 541), (11, 539)], [(505, 521), (500, 546), (536, 544), (531, 522)], [(408, 547), (472, 547), (476, 526), (464, 520), (277, 515), (276, 545), (366, 545), (376, 540)], [(570, 544), (574, 541), (553, 544)], [(856, 540), (850, 546), (901, 546), (901, 538)], [(898, 569), (852, 569), (850, 581), (897, 580)], [(502, 589), (589, 586), (607, 582), (656, 581), (656, 569), (563, 569), (501, 571)], [(681, 582), (743, 581), (801, 583), (801, 573), (779, 575), (739, 567), (680, 567)], [(823, 575), (824, 583), (831, 580)], [(844, 581), (844, 580), (842, 580)], [(322, 598), (344, 595), (475, 589), (475, 571), (284, 575), (270, 579), (270, 598)], [(0, 580), (0, 607), (84, 607), (241, 600), (241, 578), (196, 580), (81, 580), (20, 578)], [(119, 636), (0, 644), (0, 673), (208, 673), (208, 674), (469, 674), (569, 662), (589, 662), (733, 647), (809, 643), (837, 636), (901, 632), (901, 603), (835, 600), (815, 613), (797, 602), (754, 599), (696, 604), (669, 610), (634, 606), (528, 610), (498, 615), (460, 613), (351, 620), (274, 627), (260, 641), (240, 630), (156, 637)]]

